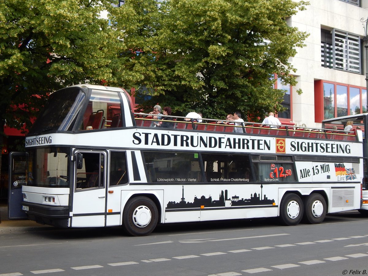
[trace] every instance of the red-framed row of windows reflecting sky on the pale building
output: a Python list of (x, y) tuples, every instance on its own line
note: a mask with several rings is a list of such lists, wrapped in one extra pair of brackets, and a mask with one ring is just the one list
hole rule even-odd
[(315, 81), (315, 121), (366, 112), (367, 90), (364, 87)]

